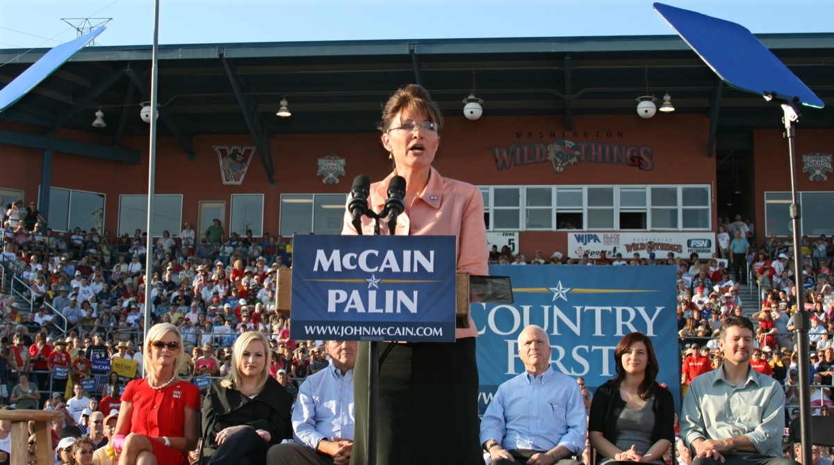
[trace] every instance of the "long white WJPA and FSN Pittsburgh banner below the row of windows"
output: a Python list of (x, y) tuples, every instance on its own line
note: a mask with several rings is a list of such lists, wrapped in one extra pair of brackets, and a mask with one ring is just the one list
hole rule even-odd
[(716, 252), (716, 233), (568, 233), (568, 257), (600, 258), (600, 252), (614, 259), (622, 253), (625, 261), (638, 254), (649, 258), (655, 253), (658, 260), (666, 260), (669, 253), (675, 257), (689, 258), (692, 253), (699, 257), (711, 257)]

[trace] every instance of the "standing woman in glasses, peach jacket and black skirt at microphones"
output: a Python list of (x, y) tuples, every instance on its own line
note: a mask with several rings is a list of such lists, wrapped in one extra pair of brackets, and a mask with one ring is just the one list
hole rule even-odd
[[(379, 212), (388, 197), (391, 178), (405, 178), (404, 212), (396, 235), (457, 237), (457, 271), (485, 275), (489, 255), (484, 223), (484, 198), (475, 186), (443, 178), (432, 168), (443, 116), (425, 88), (409, 84), (385, 103), (379, 131), (394, 171), (370, 187), (368, 208)], [(343, 234), (356, 234), (351, 216)], [(387, 225), (383, 234), (389, 234)], [(374, 223), (363, 217), (363, 233)], [(483, 463), (478, 426), (478, 367), (475, 338), (469, 328), (456, 330), (455, 343), (380, 343), (386, 353), (379, 370), (377, 463), (409, 465)], [(393, 346), (393, 347), (391, 347)], [(356, 433), (351, 463), (364, 464), (368, 451), (369, 343), (359, 343), (354, 371)], [(444, 373), (439, 378), (439, 373)], [(427, 453), (429, 456), (427, 457)]]

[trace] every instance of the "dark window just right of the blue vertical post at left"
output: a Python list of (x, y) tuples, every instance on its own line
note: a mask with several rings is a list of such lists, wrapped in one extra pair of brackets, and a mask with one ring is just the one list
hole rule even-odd
[(103, 193), (49, 188), (49, 227), (56, 231), (81, 228), (89, 232), (104, 225)]

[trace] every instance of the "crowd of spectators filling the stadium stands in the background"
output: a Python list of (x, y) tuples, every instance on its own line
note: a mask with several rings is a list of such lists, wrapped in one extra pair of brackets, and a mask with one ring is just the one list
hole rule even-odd
[[(148, 251), (143, 245), (145, 235), (138, 230), (120, 238), (95, 229), (53, 233), (34, 207), (30, 204), (27, 210), (18, 202), (4, 208), (0, 397), (17, 408), (64, 412), (63, 423), (53, 425), (53, 446), (58, 446), (63, 436), (60, 430), (67, 425), (77, 426), (80, 436), (89, 435), (96, 428), (89, 426), (90, 414), (110, 415), (130, 379), (109, 369), (95, 370), (93, 360), (123, 358), (142, 365)], [(796, 249), (775, 237), (756, 247), (753, 231), (753, 225), (741, 218), (734, 223), (725, 218), (718, 228), (718, 250), (709, 258), (694, 254), (681, 258), (672, 253), (666, 258), (654, 253), (648, 258), (637, 253), (631, 258), (621, 253), (611, 258), (605, 253), (598, 258), (587, 254), (565, 258), (560, 252), (545, 258), (536, 251), (528, 261), (507, 247), (499, 251), (493, 246), (489, 260), (510, 265), (676, 267), (684, 392), (692, 378), (720, 366), (716, 336), (723, 319), (746, 315), (758, 325), (751, 366), (784, 386), (786, 416), (796, 416), (798, 356), (792, 336)], [(744, 263), (731, 259), (732, 236), (741, 236), (747, 243)], [(834, 246), (825, 236), (813, 242), (805, 237), (798, 250), (805, 263), (806, 291), (801, 300), (804, 310), (811, 313), (812, 405), (814, 414), (828, 415), (827, 407), (834, 405), (834, 276), (830, 269)], [(204, 233), (194, 232), (189, 223), (175, 238), (163, 233), (151, 253), (151, 318), (153, 323), (173, 323), (182, 333), (183, 375), (226, 375), (235, 338), (249, 330), (268, 334), (274, 361), (269, 374), (293, 395), (304, 378), (329, 366), (321, 343), (290, 339), (289, 318), (274, 308), (277, 270), (292, 262), (289, 241), (269, 234), (256, 239), (250, 232), (244, 237), (230, 233), (227, 238), (215, 220)], [(744, 280), (731, 277), (736, 270)], [(742, 282), (748, 278), (753, 290), (742, 293)], [(13, 287), (17, 297), (10, 293)], [(141, 376), (135, 374), (135, 378)], [(83, 388), (89, 384), (81, 383), (85, 378), (95, 380), (89, 392)], [(593, 393), (585, 388), (583, 396), (590, 403)], [(64, 402), (64, 397), (69, 399)]]

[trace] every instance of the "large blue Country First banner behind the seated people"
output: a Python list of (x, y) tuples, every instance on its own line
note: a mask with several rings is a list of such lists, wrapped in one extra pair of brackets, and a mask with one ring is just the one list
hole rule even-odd
[(478, 338), (480, 413), (498, 386), (525, 372), (518, 336), (530, 324), (550, 337), (553, 369), (593, 392), (615, 376), (614, 349), (625, 334), (651, 337), (660, 373), (678, 403), (681, 391), (673, 267), (513, 267), (491, 265), (509, 276), (511, 304), (472, 304)]

